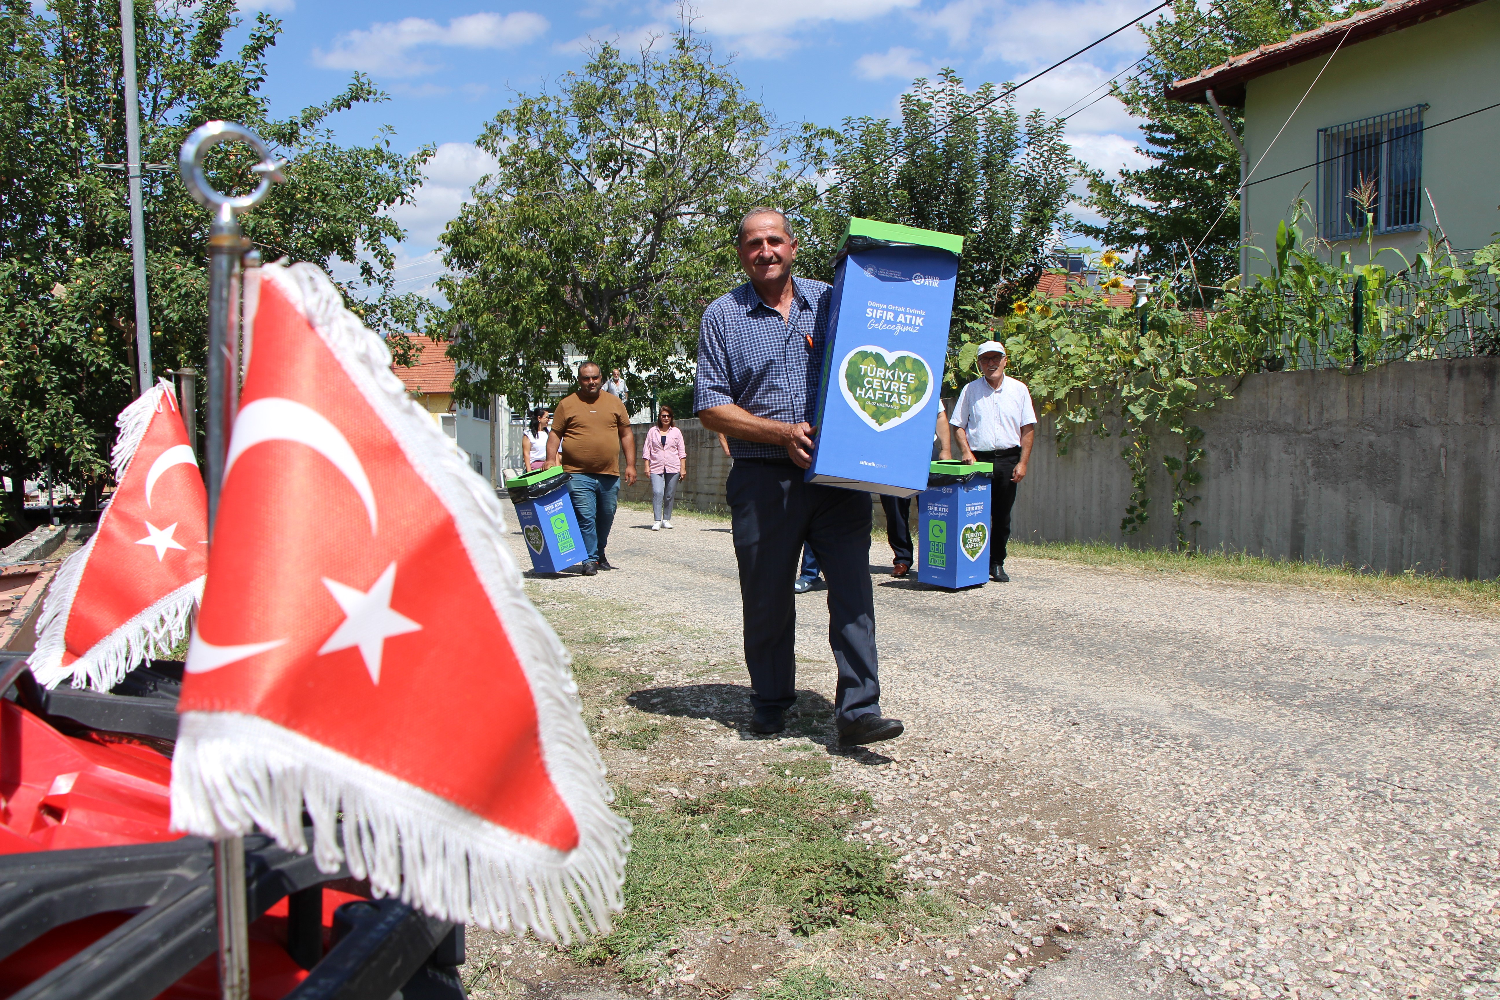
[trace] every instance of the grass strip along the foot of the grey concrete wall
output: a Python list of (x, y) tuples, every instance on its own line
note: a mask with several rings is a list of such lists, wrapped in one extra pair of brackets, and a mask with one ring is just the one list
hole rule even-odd
[(1029, 543), (1012, 538), (1010, 553), (1029, 559), (1056, 559), (1140, 573), (1191, 573), (1240, 583), (1308, 586), (1341, 594), (1386, 597), (1424, 607), (1500, 615), (1500, 580), (1455, 580), (1416, 570), (1372, 573), (1350, 565), (1263, 559), (1238, 552), (1125, 549), (1101, 541)]

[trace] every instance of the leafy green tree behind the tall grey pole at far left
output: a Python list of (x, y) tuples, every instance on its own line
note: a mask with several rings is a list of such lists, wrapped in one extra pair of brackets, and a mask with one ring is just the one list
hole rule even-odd
[[(328, 115), (384, 99), (358, 75), (332, 100), (273, 118), (261, 87), (280, 25), (262, 13), (225, 52), (234, 6), (136, 1), (142, 157), (174, 166), (144, 183), (158, 372), (204, 363), (210, 219), (176, 162), (213, 118), (255, 129), (286, 160), (286, 183), (244, 216), (267, 258), (358, 261), (344, 289), (351, 307), (376, 327), (414, 316), (410, 298), (390, 294), (402, 231), (386, 210), (410, 199), (428, 151), (393, 151), (388, 130), (368, 145), (333, 141)], [(75, 486), (106, 475), (114, 417), (135, 393), (126, 184), (105, 169), (124, 162), (123, 100), (117, 3), (0, 1), (0, 469), (12, 511), (21, 480), (45, 468)], [(210, 177), (246, 190), (252, 162), (244, 147), (218, 147)]]

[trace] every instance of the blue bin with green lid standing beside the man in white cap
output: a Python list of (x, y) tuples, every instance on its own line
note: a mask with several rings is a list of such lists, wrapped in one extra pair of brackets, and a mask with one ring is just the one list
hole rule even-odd
[(933, 462), (927, 492), (916, 498), (920, 537), (916, 579), (957, 591), (990, 580), (988, 462)]

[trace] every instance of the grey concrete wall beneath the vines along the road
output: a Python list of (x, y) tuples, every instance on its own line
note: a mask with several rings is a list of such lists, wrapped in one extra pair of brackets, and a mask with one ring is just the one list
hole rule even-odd
[[(1464, 579), (1500, 574), (1500, 358), (1407, 361), (1362, 373), (1263, 372), (1196, 417), (1202, 499), (1184, 522), (1203, 549)], [(1016, 537), (1170, 547), (1172, 487), (1160, 435), (1150, 520), (1120, 531), (1130, 469), (1118, 438), (1056, 451), (1038, 426), (1016, 501)]]

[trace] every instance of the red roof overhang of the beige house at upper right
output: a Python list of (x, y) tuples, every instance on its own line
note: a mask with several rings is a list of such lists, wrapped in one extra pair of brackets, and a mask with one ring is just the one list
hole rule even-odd
[(1245, 81), (1272, 73), (1287, 66), (1348, 48), (1358, 42), (1408, 28), (1422, 21), (1440, 18), (1480, 0), (1386, 0), (1378, 7), (1352, 13), (1342, 21), (1293, 34), (1286, 42), (1262, 45), (1252, 52), (1234, 55), (1227, 63), (1204, 69), (1197, 76), (1179, 79), (1167, 88), (1172, 100), (1208, 103), (1206, 91), (1222, 105), (1245, 106)]

